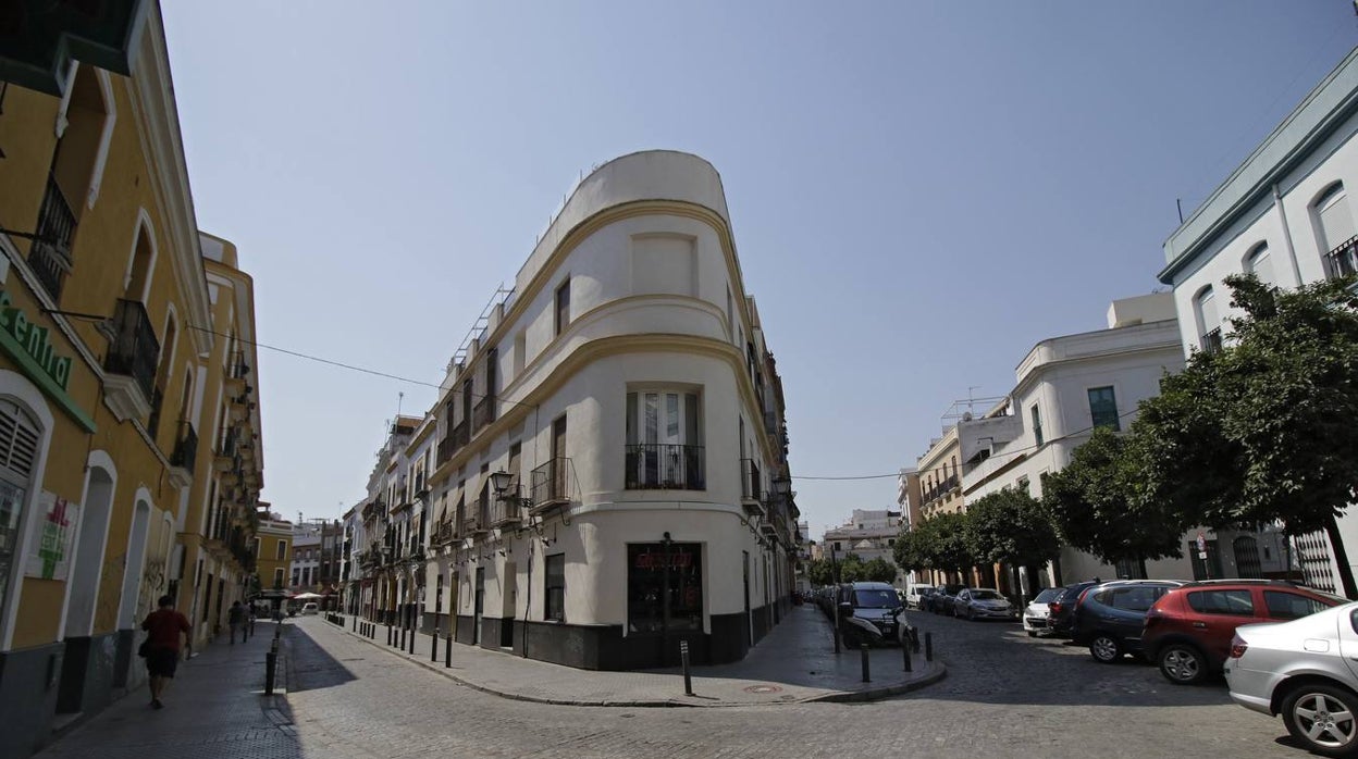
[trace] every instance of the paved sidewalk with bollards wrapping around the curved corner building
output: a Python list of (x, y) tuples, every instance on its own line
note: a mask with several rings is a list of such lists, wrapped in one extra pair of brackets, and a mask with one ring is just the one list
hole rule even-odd
[(812, 606), (793, 607), (750, 654), (735, 664), (693, 668), (693, 692), (684, 695), (679, 669), (648, 672), (599, 672), (524, 659), (516, 653), (452, 645), (452, 667), (445, 667), (445, 638), (439, 640), (439, 659), (430, 660), (430, 637), (416, 634), (416, 653), (386, 645), (387, 629), (379, 626), (369, 640), (353, 633), (353, 619), (335, 626), (325, 618), (301, 623), (323, 645), (329, 635), (354, 635), (391, 656), (416, 661), (464, 686), (494, 695), (540, 703), (572, 706), (751, 706), (811, 701), (870, 701), (907, 692), (940, 680), (940, 661), (913, 657), (914, 672), (904, 672), (899, 648), (869, 652), (872, 682), (864, 683), (860, 652), (834, 653), (830, 623)]

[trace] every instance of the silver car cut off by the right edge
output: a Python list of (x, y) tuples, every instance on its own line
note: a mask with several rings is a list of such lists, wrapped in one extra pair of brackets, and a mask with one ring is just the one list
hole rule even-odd
[[(1319, 606), (1297, 599), (1274, 597), (1293, 612)], [(1293, 622), (1237, 627), (1224, 671), (1236, 703), (1282, 714), (1291, 737), (1315, 754), (1351, 756), (1358, 754), (1355, 653), (1358, 603), (1347, 603)]]

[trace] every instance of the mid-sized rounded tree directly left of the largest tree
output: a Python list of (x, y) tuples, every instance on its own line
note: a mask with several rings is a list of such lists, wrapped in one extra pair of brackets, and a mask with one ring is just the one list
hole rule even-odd
[(1043, 504), (1066, 543), (1107, 563), (1183, 555), (1184, 517), (1137, 497), (1127, 439), (1099, 428), (1066, 468), (1042, 478)]

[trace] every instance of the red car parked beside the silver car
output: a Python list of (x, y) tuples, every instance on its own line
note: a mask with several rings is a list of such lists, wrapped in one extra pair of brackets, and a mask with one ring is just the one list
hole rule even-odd
[(1190, 582), (1150, 607), (1142, 645), (1167, 680), (1198, 683), (1225, 664), (1241, 625), (1287, 622), (1343, 603), (1282, 580)]

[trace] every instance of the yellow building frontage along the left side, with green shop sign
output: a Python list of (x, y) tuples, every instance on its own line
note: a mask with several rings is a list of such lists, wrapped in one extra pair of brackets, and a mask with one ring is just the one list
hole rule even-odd
[[(124, 7), (139, 5), (99, 22), (141, 27), (118, 37), (136, 41), (121, 61), (72, 45), (98, 57), (53, 57), (46, 87), (0, 57), (3, 756), (141, 684), (137, 626), (159, 596), (201, 626), (251, 561), (231, 547), (254, 544), (262, 459), (242, 456), (239, 492), (223, 482), (234, 456), (215, 471), (225, 429), (258, 447), (254, 390), (228, 376), (253, 334), (249, 278), (225, 244), (204, 258), (160, 11)], [(240, 539), (215, 546), (223, 504)]]

